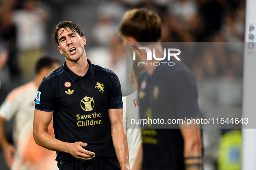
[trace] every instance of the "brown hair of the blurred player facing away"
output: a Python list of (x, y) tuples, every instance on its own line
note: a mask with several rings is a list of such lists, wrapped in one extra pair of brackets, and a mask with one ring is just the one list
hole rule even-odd
[(139, 42), (156, 42), (161, 39), (161, 19), (146, 8), (132, 9), (124, 14), (119, 31)]

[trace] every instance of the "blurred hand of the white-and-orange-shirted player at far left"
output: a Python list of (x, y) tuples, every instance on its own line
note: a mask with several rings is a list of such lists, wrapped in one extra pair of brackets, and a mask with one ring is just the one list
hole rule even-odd
[(16, 154), (16, 148), (13, 145), (7, 143), (3, 147), (3, 155), (7, 166), (10, 168), (13, 165), (14, 156)]

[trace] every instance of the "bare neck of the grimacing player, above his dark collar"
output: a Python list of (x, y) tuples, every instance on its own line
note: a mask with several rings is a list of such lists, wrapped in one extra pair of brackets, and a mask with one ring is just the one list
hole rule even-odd
[(84, 76), (89, 69), (86, 55), (82, 56), (77, 62), (66, 60), (66, 64), (78, 76)]

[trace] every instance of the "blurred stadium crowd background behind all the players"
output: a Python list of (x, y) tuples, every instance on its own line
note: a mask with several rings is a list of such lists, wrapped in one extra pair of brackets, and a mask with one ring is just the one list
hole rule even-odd
[[(138, 7), (159, 14), (165, 42), (244, 41), (245, 0), (0, 0), (0, 104), (13, 88), (32, 80), (34, 60), (42, 54), (64, 62), (52, 38), (55, 25), (63, 20), (83, 29), (87, 57), (116, 72), (123, 95), (131, 94), (118, 26), (127, 10)], [(243, 51), (231, 57), (222, 52), (206, 51), (182, 61), (198, 80), (202, 114), (210, 110), (241, 115)], [(7, 56), (5, 63), (1, 58)], [(11, 127), (12, 122), (6, 123), (10, 141)], [(204, 170), (240, 170), (240, 155), (239, 129), (204, 129)], [(8, 170), (2, 151), (0, 169)]]

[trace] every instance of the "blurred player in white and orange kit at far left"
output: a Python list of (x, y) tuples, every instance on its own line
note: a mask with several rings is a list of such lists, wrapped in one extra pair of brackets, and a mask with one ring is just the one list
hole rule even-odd
[[(32, 134), (36, 90), (42, 79), (58, 67), (59, 63), (49, 57), (39, 59), (34, 80), (13, 89), (0, 107), (0, 144), (6, 164), (12, 170), (58, 169), (55, 152), (37, 145)], [(13, 117), (14, 146), (7, 141), (3, 126)], [(48, 132), (54, 135), (52, 123)]]

